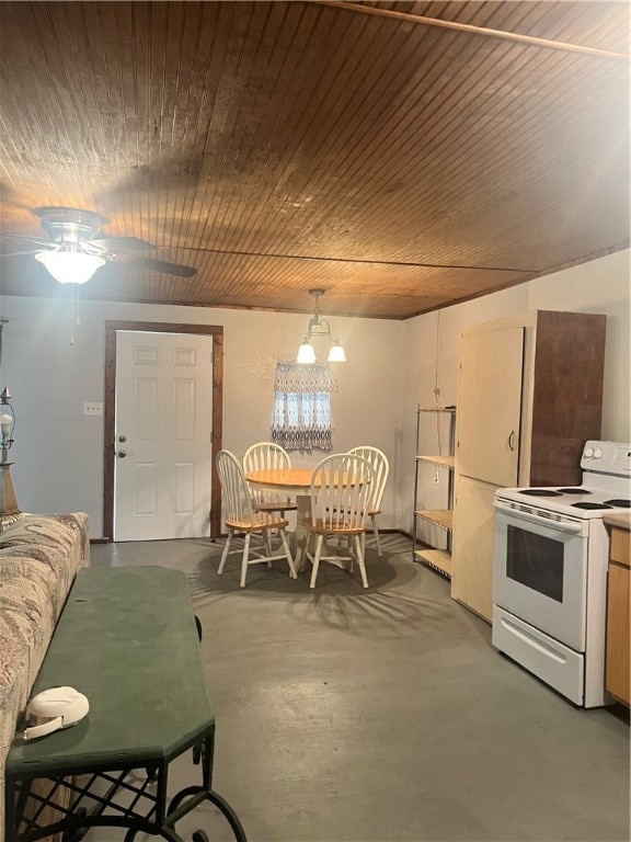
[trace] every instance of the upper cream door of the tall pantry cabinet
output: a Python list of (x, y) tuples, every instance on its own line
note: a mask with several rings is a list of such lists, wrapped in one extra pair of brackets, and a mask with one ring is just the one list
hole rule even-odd
[(456, 465), (496, 486), (517, 485), (524, 328), (462, 337)]

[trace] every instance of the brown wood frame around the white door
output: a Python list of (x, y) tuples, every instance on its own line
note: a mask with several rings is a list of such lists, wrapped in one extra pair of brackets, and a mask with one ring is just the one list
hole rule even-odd
[(183, 325), (161, 321), (105, 322), (105, 405), (103, 417), (103, 536), (114, 539), (114, 465), (116, 460), (116, 331), (193, 333), (213, 337), (213, 470), (210, 479), (210, 537), (221, 534), (221, 485), (215, 470), (223, 442), (223, 328), (217, 325)]

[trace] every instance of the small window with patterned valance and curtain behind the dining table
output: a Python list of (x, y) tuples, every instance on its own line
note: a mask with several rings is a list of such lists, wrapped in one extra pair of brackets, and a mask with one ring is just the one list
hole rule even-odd
[(276, 363), (272, 441), (286, 451), (333, 450), (331, 392), (336, 389), (326, 364)]

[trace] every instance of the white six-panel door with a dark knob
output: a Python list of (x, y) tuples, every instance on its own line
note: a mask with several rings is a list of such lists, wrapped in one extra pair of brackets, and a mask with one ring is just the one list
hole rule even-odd
[(116, 333), (114, 541), (210, 531), (213, 337)]

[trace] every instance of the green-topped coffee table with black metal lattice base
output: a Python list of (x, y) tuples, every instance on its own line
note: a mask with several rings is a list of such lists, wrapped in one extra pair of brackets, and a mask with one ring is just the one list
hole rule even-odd
[[(139, 832), (180, 842), (176, 822), (210, 801), (245, 842), (237, 815), (211, 789), (215, 714), (182, 572), (80, 571), (32, 694), (59, 685), (87, 695), (90, 713), (38, 740), (15, 735), (7, 760), (7, 840), (61, 832), (71, 842), (91, 827), (122, 827), (126, 842)], [(187, 750), (202, 783), (169, 798), (169, 764)], [(42, 780), (49, 784), (44, 795)], [(207, 842), (207, 834), (195, 831), (193, 841)]]

